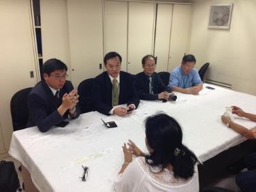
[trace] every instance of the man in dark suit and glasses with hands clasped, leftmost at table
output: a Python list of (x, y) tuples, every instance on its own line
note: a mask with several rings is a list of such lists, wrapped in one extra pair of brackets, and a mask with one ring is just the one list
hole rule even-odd
[[(63, 126), (68, 117), (80, 114), (78, 94), (67, 78), (67, 65), (59, 59), (49, 59), (42, 68), (44, 80), (38, 82), (28, 98), (28, 127), (37, 126), (46, 132), (55, 126)], [(64, 122), (65, 123), (65, 122)]]

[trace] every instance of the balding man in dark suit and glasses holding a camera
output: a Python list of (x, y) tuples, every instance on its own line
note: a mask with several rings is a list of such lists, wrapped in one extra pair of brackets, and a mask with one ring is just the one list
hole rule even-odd
[(159, 74), (155, 72), (156, 64), (156, 59), (151, 54), (147, 54), (142, 58), (142, 68), (144, 71), (135, 76), (135, 88), (140, 99), (168, 99), (168, 88), (163, 84)]

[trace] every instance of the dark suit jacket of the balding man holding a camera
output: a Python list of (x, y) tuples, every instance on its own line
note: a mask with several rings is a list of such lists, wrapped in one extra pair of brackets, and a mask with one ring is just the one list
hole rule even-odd
[(153, 94), (149, 93), (149, 76), (147, 76), (144, 71), (140, 72), (135, 76), (135, 89), (140, 96), (140, 99), (144, 100), (156, 100), (158, 99), (158, 94), (163, 91), (169, 91), (167, 86), (163, 84), (163, 80), (156, 72), (152, 75), (152, 86)]

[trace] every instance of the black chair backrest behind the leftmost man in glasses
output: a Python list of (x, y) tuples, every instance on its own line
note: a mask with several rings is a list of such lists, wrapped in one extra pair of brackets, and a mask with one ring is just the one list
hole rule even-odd
[(21, 89), (12, 96), (10, 107), (14, 131), (27, 128), (27, 121), (29, 118), (27, 98), (31, 89), (32, 87)]

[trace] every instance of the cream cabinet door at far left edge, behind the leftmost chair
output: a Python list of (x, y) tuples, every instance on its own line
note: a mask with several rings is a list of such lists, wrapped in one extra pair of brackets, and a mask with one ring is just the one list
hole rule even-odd
[[(4, 144), (7, 152), (13, 130), (12, 95), (37, 82), (29, 0), (0, 1), (0, 23), (0, 151), (3, 151)], [(34, 78), (30, 78), (30, 71), (33, 71)]]

